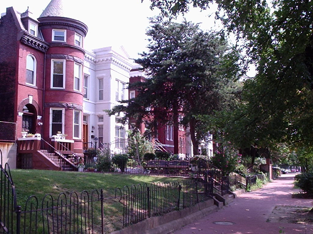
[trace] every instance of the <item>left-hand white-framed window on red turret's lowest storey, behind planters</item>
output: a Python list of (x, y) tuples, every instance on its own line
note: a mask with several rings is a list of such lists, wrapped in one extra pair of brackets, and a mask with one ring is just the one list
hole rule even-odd
[(64, 133), (64, 108), (50, 108), (50, 132), (49, 135)]

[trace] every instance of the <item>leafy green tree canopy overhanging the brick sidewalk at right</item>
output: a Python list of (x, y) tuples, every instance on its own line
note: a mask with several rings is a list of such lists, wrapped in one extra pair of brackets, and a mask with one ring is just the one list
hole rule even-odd
[(295, 149), (310, 149), (313, 1), (151, 0), (151, 8), (175, 16), (190, 6), (206, 9), (212, 3), (218, 5), (216, 19), (225, 31), (243, 44), (242, 59), (257, 66), (257, 75), (244, 82), (244, 102), (228, 116), (223, 134), (241, 146), (275, 148), (285, 142)]

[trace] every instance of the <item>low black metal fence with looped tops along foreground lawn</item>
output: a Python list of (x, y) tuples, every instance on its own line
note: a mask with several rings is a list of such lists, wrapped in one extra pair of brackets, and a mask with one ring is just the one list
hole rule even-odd
[[(0, 154), (2, 160), (1, 150)], [(115, 189), (114, 197), (105, 196), (102, 189), (60, 193), (57, 198), (50, 194), (42, 199), (30, 196), (20, 207), (9, 166), (5, 164), (3, 168), (1, 162), (0, 194), (0, 233), (103, 234), (108, 223), (105, 207), (110, 202), (115, 204), (114, 215), (123, 217), (122, 227), (126, 227), (210, 199), (213, 180), (125, 186)]]

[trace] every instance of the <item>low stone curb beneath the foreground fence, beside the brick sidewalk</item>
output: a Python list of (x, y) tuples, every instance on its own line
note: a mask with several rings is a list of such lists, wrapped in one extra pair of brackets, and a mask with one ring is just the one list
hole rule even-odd
[(192, 207), (173, 211), (162, 216), (148, 218), (111, 234), (165, 234), (192, 223), (203, 216), (218, 210), (213, 199), (200, 202)]

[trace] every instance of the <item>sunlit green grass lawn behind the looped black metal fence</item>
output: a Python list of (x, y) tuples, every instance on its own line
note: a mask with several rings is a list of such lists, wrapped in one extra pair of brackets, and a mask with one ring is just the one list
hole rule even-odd
[[(13, 183), (17, 193), (17, 204), (25, 209), (25, 202), (31, 195), (38, 198), (39, 208), (42, 205), (42, 199), (46, 194), (51, 194), (54, 204), (60, 193), (64, 193), (68, 198), (70, 193), (75, 191), (80, 196), (84, 190), (91, 192), (97, 189), (100, 192), (104, 190), (104, 197), (114, 197), (115, 188), (131, 187), (132, 184), (141, 183), (150, 184), (151, 182), (181, 182), (182, 178), (169, 178), (163, 176), (148, 175), (129, 175), (129, 174), (103, 174), (89, 172), (63, 172), (63, 171), (44, 171), (44, 170), (11, 170)], [(80, 199), (80, 198), (79, 198)], [(30, 210), (29, 207), (27, 210)], [(95, 233), (99, 233), (100, 219), (100, 203), (95, 203)], [(104, 202), (105, 214), (105, 233), (122, 228), (123, 225), (123, 205), (117, 199), (109, 199)], [(23, 218), (23, 216), (22, 216)], [(25, 217), (25, 219), (30, 219)], [(41, 225), (38, 226), (41, 229)]]

